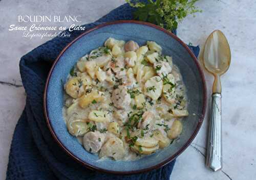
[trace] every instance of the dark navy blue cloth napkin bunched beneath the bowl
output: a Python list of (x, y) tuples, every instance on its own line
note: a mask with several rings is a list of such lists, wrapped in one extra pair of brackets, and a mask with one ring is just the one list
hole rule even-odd
[[(88, 30), (103, 22), (132, 19), (133, 10), (129, 5), (125, 4), (96, 22), (85, 24), (85, 26)], [(100, 173), (76, 163), (52, 138), (43, 111), (42, 99), (46, 78), (53, 61), (62, 48), (81, 33), (81, 31), (74, 31), (70, 37), (56, 37), (21, 58), (19, 64), (20, 75), (27, 93), (27, 102), (25, 110), (15, 127), (6, 179), (169, 179), (175, 160), (157, 170), (136, 175)], [(197, 56), (199, 47), (190, 46), (190, 48)]]

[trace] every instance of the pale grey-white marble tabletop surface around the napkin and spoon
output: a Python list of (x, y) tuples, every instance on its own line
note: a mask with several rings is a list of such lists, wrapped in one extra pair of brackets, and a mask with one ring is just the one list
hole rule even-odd
[[(103, 2), (103, 3), (102, 3)], [(92, 22), (123, 4), (123, 0), (90, 1), (0, 1), (0, 179), (5, 179), (8, 154), (15, 124), (25, 106), (26, 94), (20, 87), (18, 62), (22, 55), (50, 38), (26, 39), (21, 33), (8, 32), (17, 15), (81, 15)], [(212, 172), (205, 167), (208, 113), (193, 143), (177, 159), (174, 180), (256, 179), (256, 4), (255, 1), (199, 1), (203, 13), (187, 17), (178, 28), (186, 43), (204, 44), (214, 30), (223, 31), (231, 47), (231, 66), (222, 77), (223, 169)], [(63, 23), (60, 23), (63, 25)], [(66, 25), (68, 25), (66, 23)], [(205, 73), (208, 95), (212, 76)], [(210, 99), (208, 101), (208, 104)]]

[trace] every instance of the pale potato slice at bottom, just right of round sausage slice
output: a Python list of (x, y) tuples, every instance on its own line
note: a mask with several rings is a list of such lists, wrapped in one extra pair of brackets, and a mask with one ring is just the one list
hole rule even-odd
[(110, 138), (102, 146), (99, 157), (109, 157), (115, 160), (120, 160), (124, 157), (125, 151), (123, 146), (123, 141), (117, 137)]

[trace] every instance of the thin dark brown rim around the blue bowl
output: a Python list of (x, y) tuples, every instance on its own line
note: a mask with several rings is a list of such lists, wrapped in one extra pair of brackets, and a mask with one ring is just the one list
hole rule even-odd
[[(74, 42), (76, 42), (82, 36), (87, 35), (88, 33), (92, 32), (94, 30), (103, 28), (103, 27), (105, 27), (107, 25), (120, 24), (120, 23), (135, 23), (135, 24), (147, 25), (149, 27), (152, 27), (152, 28), (155, 28), (155, 29), (158, 29), (158, 30), (162, 31), (162, 32), (166, 33), (167, 35), (171, 36), (172, 38), (174, 38), (175, 40), (177, 40), (187, 50), (189, 55), (193, 58), (195, 64), (197, 65), (197, 68), (198, 68), (198, 70), (200, 72), (202, 83), (203, 83), (203, 97), (204, 97), (204, 99), (203, 99), (203, 110), (202, 110), (201, 117), (199, 118), (196, 130), (193, 132), (191, 137), (187, 140), (187, 142), (173, 156), (167, 158), (166, 160), (164, 160), (163, 162), (161, 162), (161, 163), (159, 163), (159, 164), (157, 164), (155, 166), (148, 167), (148, 168), (145, 168), (145, 169), (135, 170), (135, 171), (112, 171), (112, 170), (106, 170), (106, 169), (102, 169), (102, 168), (98, 168), (98, 167), (95, 167), (93, 165), (90, 165), (90, 164), (80, 160), (79, 158), (77, 158), (71, 151), (68, 150), (68, 148), (65, 145), (63, 145), (60, 142), (60, 140), (58, 139), (57, 135), (53, 131), (51, 120), (48, 117), (48, 109), (47, 109), (47, 98), (46, 97), (47, 97), (47, 89), (48, 89), (48, 85), (49, 85), (49, 80), (51, 78), (52, 71), (53, 71), (56, 63), (58, 62), (58, 60), (60, 59), (62, 54)], [(87, 168), (89, 168), (91, 170), (96, 170), (96, 171), (99, 171), (99, 172), (112, 173), (112, 174), (121, 174), (121, 175), (125, 175), (125, 174), (129, 175), (129, 174), (136, 174), (136, 173), (147, 172), (147, 171), (150, 171), (150, 170), (153, 170), (153, 169), (158, 169), (158, 168), (168, 164), (169, 162), (173, 161), (174, 159), (176, 159), (189, 146), (189, 144), (195, 139), (195, 137), (198, 134), (198, 132), (200, 130), (200, 127), (201, 127), (201, 125), (203, 123), (203, 119), (204, 119), (205, 111), (206, 111), (206, 106), (207, 106), (207, 93), (206, 92), (207, 92), (207, 90), (206, 90), (206, 81), (205, 81), (203, 70), (202, 70), (202, 68), (201, 68), (201, 66), (200, 66), (196, 56), (193, 54), (193, 52), (191, 52), (191, 50), (188, 48), (188, 46), (180, 38), (178, 38), (175, 34), (173, 34), (173, 33), (169, 32), (169, 31), (159, 27), (158, 25), (155, 25), (155, 24), (152, 24), (152, 23), (149, 23), (149, 22), (138, 21), (138, 20), (116, 20), (116, 21), (111, 21), (111, 22), (106, 22), (106, 23), (102, 23), (102, 24), (96, 25), (94, 28), (89, 29), (88, 31), (80, 34), (78, 37), (76, 37), (73, 41), (71, 41), (66, 47), (64, 47), (61, 50), (60, 54), (58, 55), (58, 57), (53, 62), (53, 65), (52, 65), (52, 67), (51, 67), (51, 69), (49, 71), (49, 74), (47, 76), (46, 85), (45, 85), (45, 89), (44, 89), (44, 114), (45, 114), (45, 118), (46, 118), (46, 121), (47, 121), (47, 125), (49, 127), (49, 130), (50, 130), (54, 140), (76, 162), (78, 162), (79, 164), (81, 164), (81, 165), (83, 165), (83, 166), (85, 166), (85, 167), (87, 167)]]

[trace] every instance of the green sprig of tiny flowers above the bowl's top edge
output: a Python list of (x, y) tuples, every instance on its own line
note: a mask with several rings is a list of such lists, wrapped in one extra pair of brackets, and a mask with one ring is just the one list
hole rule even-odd
[[(177, 29), (178, 22), (182, 21), (188, 14), (202, 12), (195, 3), (198, 0), (148, 0), (141, 3), (135, 0), (125, 0), (131, 7), (137, 8), (134, 18), (159, 25), (168, 31)], [(195, 16), (195, 15), (194, 15)]]

